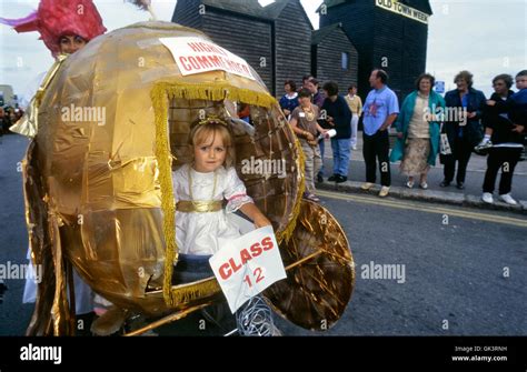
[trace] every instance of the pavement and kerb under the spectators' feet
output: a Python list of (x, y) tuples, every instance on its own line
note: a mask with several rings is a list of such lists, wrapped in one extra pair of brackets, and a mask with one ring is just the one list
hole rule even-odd
[[(366, 167), (362, 157), (362, 133), (359, 132), (357, 150), (351, 151), (351, 161), (348, 173), (348, 181), (344, 183), (328, 182), (327, 178), (332, 174), (332, 153), (331, 143), (326, 140), (325, 164), (325, 182), (317, 183), (317, 189), (338, 191), (347, 193), (378, 194), (380, 184), (376, 184), (370, 191), (364, 191), (360, 185), (366, 179)], [(443, 165), (439, 160), (436, 167), (432, 167), (428, 173), (428, 190), (421, 190), (418, 187), (418, 180), (414, 189), (408, 189), (405, 184), (406, 175), (399, 172), (399, 162), (391, 163), (391, 188), (389, 195), (398, 199), (418, 200), (425, 202), (444, 203), (451, 205), (474, 207), (486, 210), (503, 210), (527, 214), (527, 161), (518, 162), (513, 179), (513, 198), (518, 205), (509, 205), (498, 201), (497, 189), (499, 184), (499, 174), (496, 180), (496, 191), (494, 194), (495, 202), (487, 204), (481, 200), (483, 181), (487, 169), (487, 158), (473, 153), (467, 168), (467, 177), (465, 181), (465, 190), (458, 190), (453, 183), (448, 188), (440, 188), (443, 181)], [(377, 172), (378, 173), (378, 172)], [(378, 180), (380, 180), (380, 175)]]

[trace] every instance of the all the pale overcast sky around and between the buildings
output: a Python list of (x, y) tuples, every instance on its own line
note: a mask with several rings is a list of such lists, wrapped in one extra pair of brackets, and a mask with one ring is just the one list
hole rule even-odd
[[(366, 0), (362, 0), (366, 1)], [(370, 0), (374, 1), (374, 0)], [(268, 4), (272, 0), (260, 0)], [(0, 0), (0, 17), (21, 18), (37, 9), (38, 0)], [(122, 0), (95, 0), (109, 31), (149, 19)], [(314, 27), (321, 0), (301, 0)], [(170, 21), (175, 0), (152, 0), (158, 19)], [(454, 89), (460, 70), (474, 73), (475, 88), (487, 95), (491, 79), (499, 73), (515, 76), (527, 69), (527, 0), (431, 0), (427, 71)], [(37, 32), (17, 33), (0, 24), (0, 84), (22, 93), (34, 77), (52, 64), (52, 58)]]

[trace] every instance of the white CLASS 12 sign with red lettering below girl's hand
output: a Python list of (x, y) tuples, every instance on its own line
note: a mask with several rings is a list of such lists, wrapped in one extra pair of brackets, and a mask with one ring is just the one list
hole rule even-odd
[(232, 313), (246, 301), (286, 278), (271, 227), (229, 241), (210, 258), (209, 263)]

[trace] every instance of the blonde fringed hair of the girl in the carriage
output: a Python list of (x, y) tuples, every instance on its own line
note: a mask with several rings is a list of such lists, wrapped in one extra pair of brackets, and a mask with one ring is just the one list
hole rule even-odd
[(229, 130), (228, 124), (225, 121), (219, 119), (207, 119), (200, 122), (197, 122), (192, 125), (189, 135), (189, 147), (191, 149), (191, 158), (193, 160), (193, 147), (196, 145), (211, 145), (216, 135), (220, 135), (223, 141), (223, 147), (226, 148), (227, 155), (225, 157), (223, 165), (226, 168), (232, 167), (236, 161), (235, 143), (232, 140), (232, 134)]

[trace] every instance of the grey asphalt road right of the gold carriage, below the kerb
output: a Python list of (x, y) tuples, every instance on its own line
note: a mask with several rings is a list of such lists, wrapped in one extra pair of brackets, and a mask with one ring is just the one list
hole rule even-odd
[[(527, 334), (525, 215), (341, 192), (319, 195), (348, 238), (355, 291), (329, 331), (314, 333), (277, 316), (284, 334)], [(371, 279), (371, 262), (404, 265), (406, 281)]]

